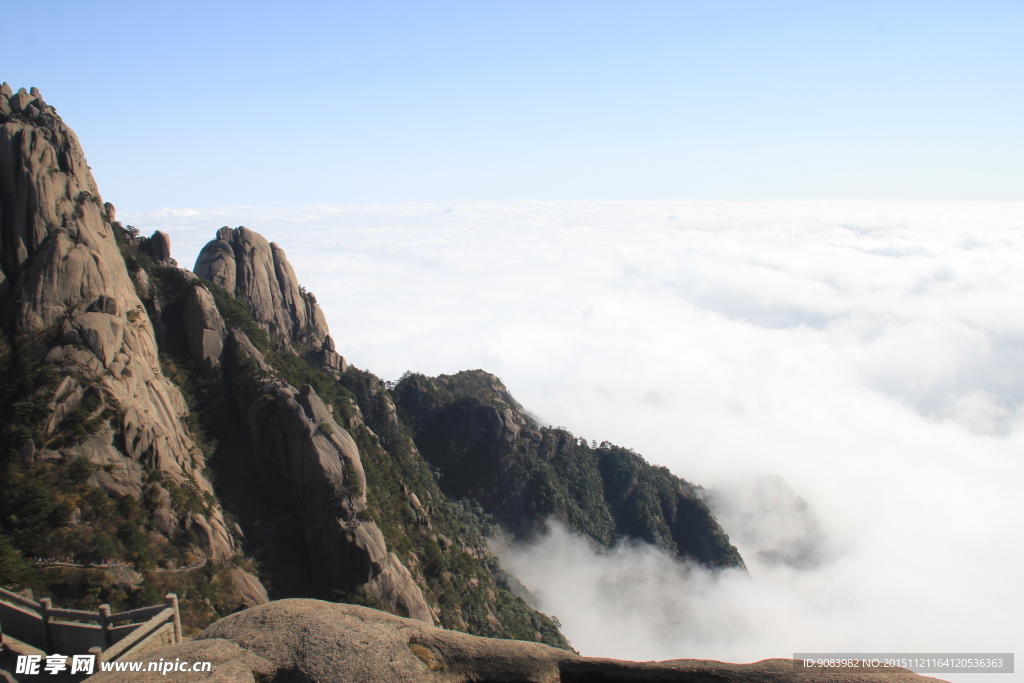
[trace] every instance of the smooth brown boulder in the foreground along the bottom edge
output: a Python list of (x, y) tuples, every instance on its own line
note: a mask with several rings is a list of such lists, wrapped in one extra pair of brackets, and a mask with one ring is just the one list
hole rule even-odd
[[(480, 638), (386, 612), (319, 600), (279, 600), (231, 614), (196, 640), (152, 650), (143, 660), (211, 661), (194, 672), (101, 673), (92, 683), (391, 683), (485, 681), (740, 683), (936, 681), (905, 670), (844, 674), (795, 670), (790, 659), (750, 665), (700, 659), (621, 661), (583, 657), (540, 643)], [(143, 668), (146, 665), (143, 665)]]

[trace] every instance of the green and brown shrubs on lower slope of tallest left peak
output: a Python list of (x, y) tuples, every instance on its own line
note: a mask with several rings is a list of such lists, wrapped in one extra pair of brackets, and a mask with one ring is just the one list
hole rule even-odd
[[(157, 272), (137, 236), (119, 224), (115, 234), (126, 260)], [(0, 331), (0, 586), (31, 589), (36, 599), (50, 597), (62, 607), (108, 603), (115, 611), (160, 603), (173, 591), (189, 632), (244, 607), (230, 580), (233, 568), (247, 566), (241, 558), (204, 563), (195, 528), (160, 532), (162, 506), (184, 518), (209, 513), (216, 501), (194, 482), (167, 479), (150, 452), (138, 463), (137, 497), (100, 484), (123, 472), (91, 463), (86, 442), (112, 434), (113, 447), (128, 459), (124, 411), (101, 382), (62, 362), (62, 352), (50, 353), (87, 352), (63, 344), (61, 328), (58, 322), (23, 334)], [(74, 408), (60, 412), (56, 405), (73, 392), (81, 394)]]

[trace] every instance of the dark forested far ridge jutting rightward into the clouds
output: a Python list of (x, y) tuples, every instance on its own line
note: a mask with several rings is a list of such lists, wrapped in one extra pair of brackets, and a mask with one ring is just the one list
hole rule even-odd
[(494, 375), (407, 374), (394, 394), (441, 488), (514, 537), (554, 517), (605, 548), (630, 538), (710, 567), (742, 566), (696, 486), (629, 449), (537, 425)]

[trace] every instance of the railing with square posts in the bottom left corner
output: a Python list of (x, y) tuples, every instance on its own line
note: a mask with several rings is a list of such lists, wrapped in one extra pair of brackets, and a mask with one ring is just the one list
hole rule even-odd
[(5, 634), (47, 653), (93, 652), (104, 661), (181, 642), (178, 596), (173, 593), (162, 605), (111, 613), (110, 605), (94, 612), (60, 609), (49, 598), (35, 602), (0, 589), (0, 625)]

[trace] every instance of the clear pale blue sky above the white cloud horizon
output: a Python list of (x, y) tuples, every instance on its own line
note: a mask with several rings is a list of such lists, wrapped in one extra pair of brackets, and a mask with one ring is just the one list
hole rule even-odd
[(104, 199), (1018, 200), (1019, 2), (4, 3)]

